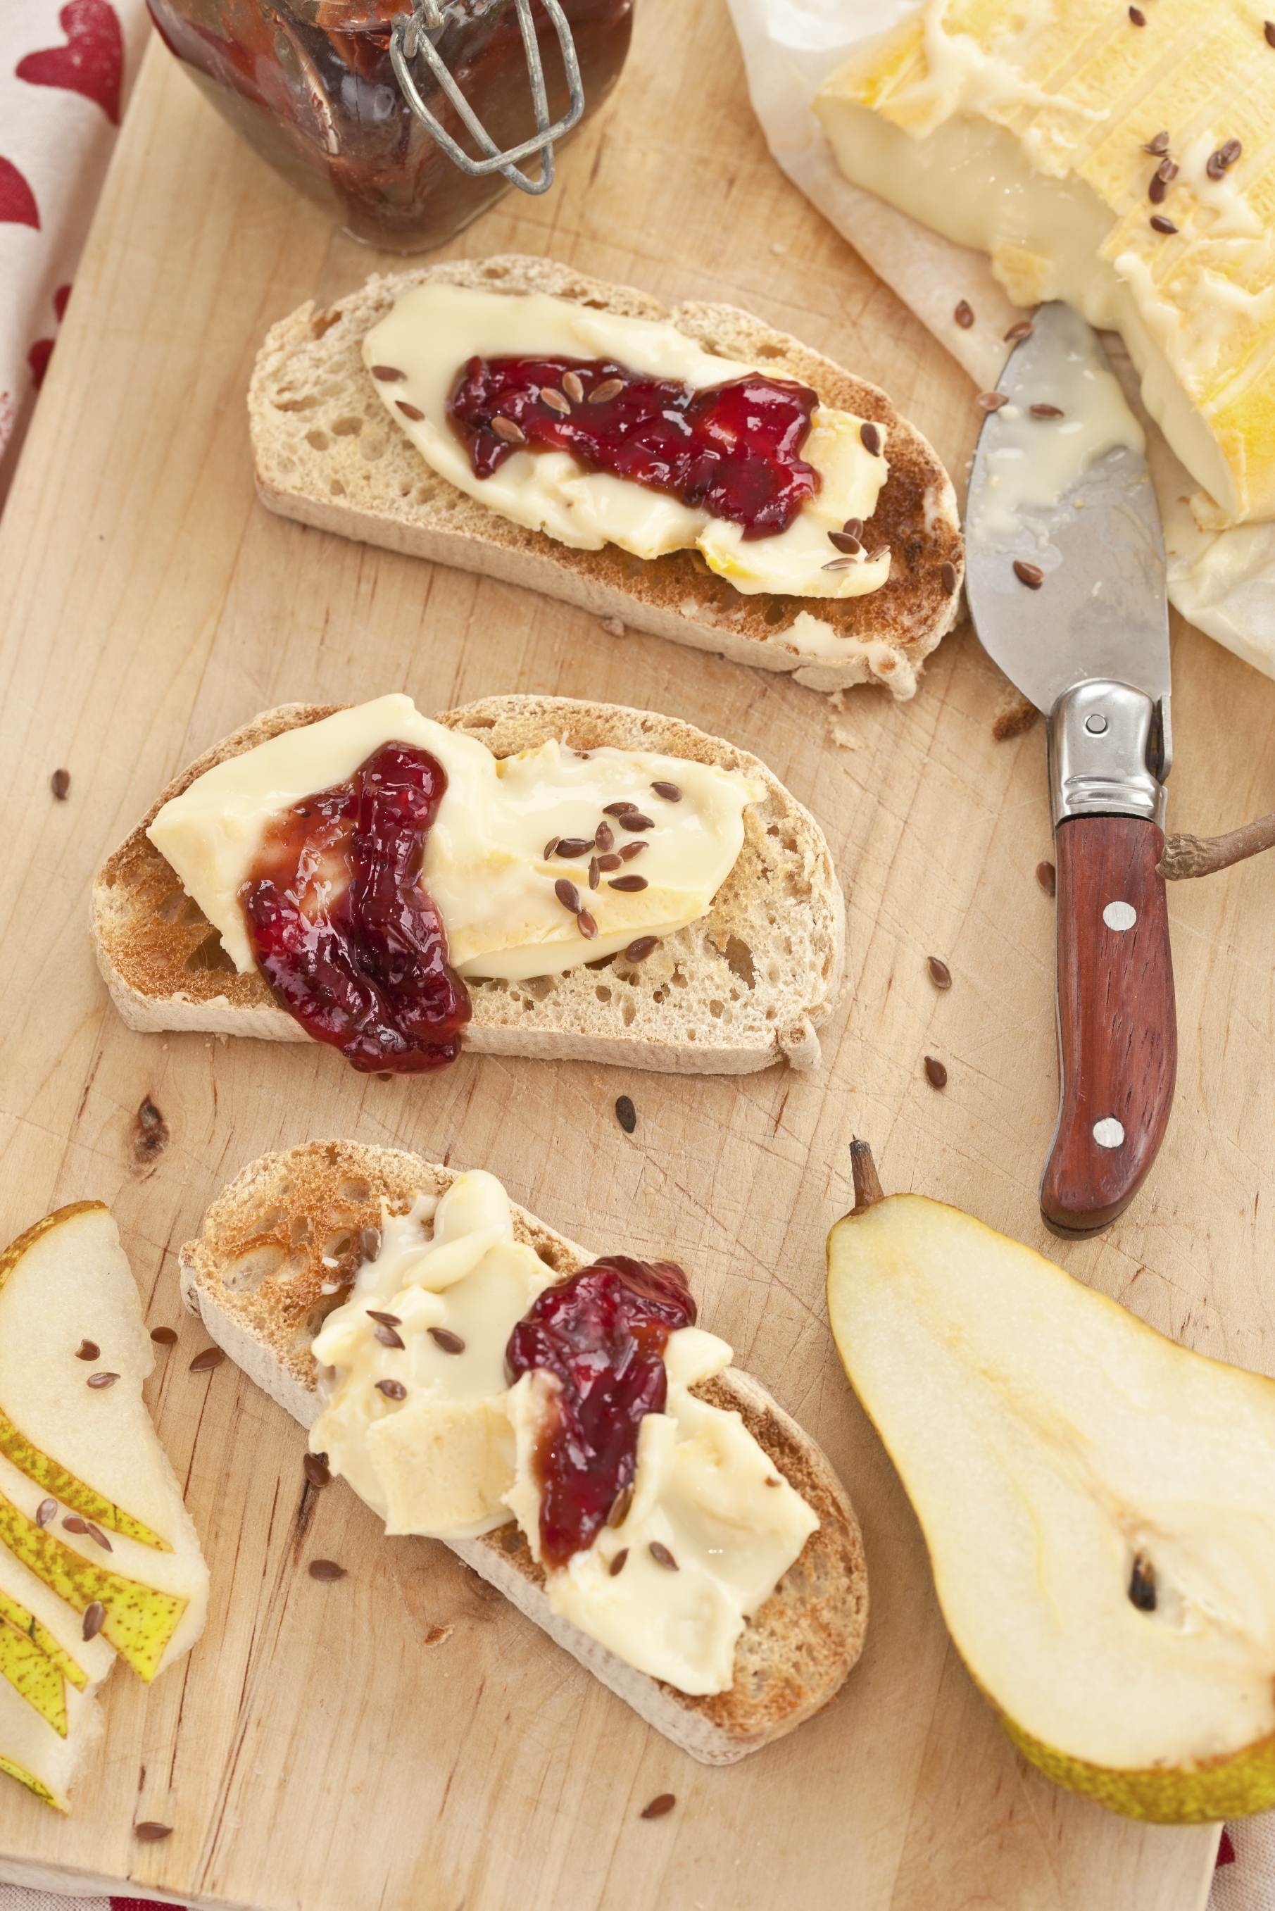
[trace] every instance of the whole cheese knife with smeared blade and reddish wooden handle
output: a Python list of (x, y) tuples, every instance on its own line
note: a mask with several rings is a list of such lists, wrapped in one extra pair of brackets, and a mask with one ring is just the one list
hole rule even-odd
[(965, 590), (983, 648), (1048, 717), (1059, 1120), (1040, 1212), (1095, 1235), (1128, 1208), (1174, 1103), (1164, 879), (1170, 654), (1141, 426), (1097, 334), (1036, 311), (979, 436)]

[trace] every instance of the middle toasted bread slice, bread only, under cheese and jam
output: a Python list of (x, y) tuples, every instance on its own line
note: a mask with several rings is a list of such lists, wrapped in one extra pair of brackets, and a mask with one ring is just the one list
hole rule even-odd
[[(262, 975), (235, 973), (145, 829), (162, 803), (216, 762), (333, 709), (285, 703), (205, 751), (97, 871), (94, 948), (130, 1028), (310, 1040)], [(577, 749), (612, 743), (746, 770), (767, 789), (746, 810), (744, 848), (707, 915), (667, 936), (644, 963), (612, 956), (528, 982), (470, 980), (465, 1047), (686, 1074), (751, 1074), (782, 1057), (799, 1068), (818, 1063), (814, 1024), (841, 988), (845, 902), (818, 824), (757, 757), (673, 717), (568, 698), (484, 698), (438, 720), (495, 757), (566, 736)]]

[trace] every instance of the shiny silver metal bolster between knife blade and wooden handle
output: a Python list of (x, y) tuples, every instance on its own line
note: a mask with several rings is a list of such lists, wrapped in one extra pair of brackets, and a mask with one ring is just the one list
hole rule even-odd
[(1168, 698), (1091, 676), (1049, 711), (1049, 810), (1070, 816), (1141, 816), (1164, 829), (1172, 762)]

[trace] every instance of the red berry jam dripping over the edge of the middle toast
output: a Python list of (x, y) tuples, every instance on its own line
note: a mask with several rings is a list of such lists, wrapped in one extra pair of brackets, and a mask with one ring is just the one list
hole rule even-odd
[(348, 784), (273, 820), (239, 891), (279, 1003), (365, 1074), (445, 1068), (470, 1019), (421, 887), (445, 789), (426, 751), (382, 743)]

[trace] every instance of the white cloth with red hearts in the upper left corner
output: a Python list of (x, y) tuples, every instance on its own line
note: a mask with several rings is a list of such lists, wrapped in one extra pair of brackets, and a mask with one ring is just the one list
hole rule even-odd
[(143, 0), (4, 0), (0, 457), (38, 390), (147, 40)]

